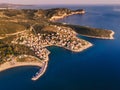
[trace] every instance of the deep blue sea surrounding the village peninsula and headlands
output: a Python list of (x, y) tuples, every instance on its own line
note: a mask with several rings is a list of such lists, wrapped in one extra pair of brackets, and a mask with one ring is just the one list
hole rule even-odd
[[(36, 6), (35, 8), (68, 7), (86, 10), (59, 22), (110, 29), (114, 40), (79, 36), (94, 45), (80, 53), (50, 47), (46, 73), (37, 81), (31, 77), (38, 67), (18, 67), (0, 73), (0, 90), (120, 90), (120, 6)], [(32, 7), (31, 7), (32, 8)]]

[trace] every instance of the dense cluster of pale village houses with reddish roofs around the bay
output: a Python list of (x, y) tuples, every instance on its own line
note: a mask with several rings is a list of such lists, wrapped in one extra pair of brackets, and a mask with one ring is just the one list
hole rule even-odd
[[(30, 47), (35, 52), (35, 55), (40, 60), (46, 60), (50, 51), (46, 49), (48, 46), (58, 46), (73, 52), (80, 52), (89, 42), (76, 37), (76, 33), (71, 28), (54, 26), (57, 30), (54, 33), (37, 33), (25, 34), (23, 33), (12, 43), (18, 43)], [(85, 47), (86, 48), (86, 47)]]

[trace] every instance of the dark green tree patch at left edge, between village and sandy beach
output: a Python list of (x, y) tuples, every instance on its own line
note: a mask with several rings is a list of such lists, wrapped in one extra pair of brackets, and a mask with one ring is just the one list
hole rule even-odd
[(5, 57), (8, 58), (11, 55), (18, 56), (21, 54), (34, 55), (34, 52), (24, 45), (5, 44), (0, 40), (0, 62), (4, 62), (6, 60)]

